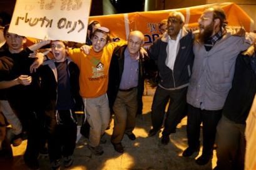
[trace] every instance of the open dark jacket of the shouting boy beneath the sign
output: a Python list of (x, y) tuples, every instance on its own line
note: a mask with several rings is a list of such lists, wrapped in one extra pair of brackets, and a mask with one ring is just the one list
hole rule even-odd
[[(83, 110), (83, 100), (79, 95), (79, 68), (74, 62), (66, 59), (68, 62), (68, 73), (70, 75), (70, 87), (71, 87), (71, 97), (74, 100), (75, 106), (73, 111)], [(44, 65), (39, 67), (38, 70), (40, 77), (40, 88), (42, 92), (42, 106), (43, 110), (56, 110), (57, 103), (57, 88), (58, 88), (58, 73), (54, 60), (47, 60)]]

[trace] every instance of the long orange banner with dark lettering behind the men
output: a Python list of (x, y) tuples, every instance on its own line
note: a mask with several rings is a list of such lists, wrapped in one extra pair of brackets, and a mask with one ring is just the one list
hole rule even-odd
[[(101, 26), (108, 27), (111, 37), (115, 39), (126, 39), (130, 31), (139, 30), (145, 35), (145, 46), (151, 43), (159, 36), (159, 24), (162, 19), (167, 19), (171, 11), (180, 11), (185, 16), (185, 24), (188, 27), (197, 27), (197, 20), (207, 7), (213, 4), (203, 6), (193, 6), (181, 9), (170, 9), (163, 11), (132, 12), (128, 14), (114, 14), (108, 16), (94, 16), (89, 20), (99, 21)], [(243, 26), (246, 31), (250, 31), (250, 17), (235, 3), (220, 3), (227, 16), (229, 26)]]

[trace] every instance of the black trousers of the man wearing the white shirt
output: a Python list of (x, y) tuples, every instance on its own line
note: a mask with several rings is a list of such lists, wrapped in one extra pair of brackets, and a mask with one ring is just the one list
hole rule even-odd
[(154, 130), (160, 130), (165, 115), (165, 107), (170, 100), (163, 135), (170, 135), (176, 132), (176, 126), (187, 114), (187, 87), (178, 90), (165, 90), (156, 88), (151, 106), (151, 121)]

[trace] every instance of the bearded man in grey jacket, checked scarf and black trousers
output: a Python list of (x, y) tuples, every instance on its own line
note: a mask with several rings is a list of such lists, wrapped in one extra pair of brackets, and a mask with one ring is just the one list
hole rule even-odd
[(237, 55), (252, 44), (255, 36), (234, 36), (226, 23), (225, 12), (219, 6), (209, 7), (198, 19), (200, 30), (194, 42), (195, 60), (187, 93), (188, 148), (183, 156), (192, 156), (199, 150), (203, 123), (203, 152), (196, 160), (200, 165), (212, 159), (216, 126), (232, 87)]

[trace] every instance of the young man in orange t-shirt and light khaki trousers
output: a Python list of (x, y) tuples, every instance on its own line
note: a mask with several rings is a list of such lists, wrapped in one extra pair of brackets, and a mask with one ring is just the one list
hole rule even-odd
[(93, 32), (90, 54), (86, 55), (80, 49), (68, 50), (69, 57), (80, 69), (80, 94), (91, 126), (88, 148), (96, 155), (103, 154), (100, 138), (105, 133), (110, 120), (106, 90), (111, 56), (116, 46), (126, 44), (125, 41), (108, 43), (109, 41), (109, 29), (99, 27)]

